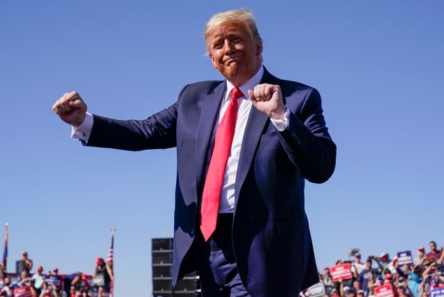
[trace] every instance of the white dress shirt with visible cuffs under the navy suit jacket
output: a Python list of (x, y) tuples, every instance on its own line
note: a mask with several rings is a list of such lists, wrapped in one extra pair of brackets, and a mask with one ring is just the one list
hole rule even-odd
[[(230, 155), (227, 161), (227, 167), (225, 168), (225, 173), (223, 175), (222, 189), (221, 189), (221, 199), (219, 201), (219, 213), (234, 212), (234, 183), (236, 182), (237, 164), (239, 163), (239, 155), (241, 153), (242, 139), (244, 137), (245, 128), (248, 121), (248, 114), (250, 114), (250, 109), (253, 105), (251, 101), (247, 98), (248, 90), (253, 90), (256, 85), (259, 85), (264, 76), (264, 67), (260, 67), (259, 71), (250, 78), (244, 85), (239, 86), (243, 96), (239, 98), (238, 112), (236, 128), (234, 130), (233, 142), (231, 145)], [(230, 92), (233, 89), (232, 83), (225, 80), (227, 84), (227, 92), (221, 102), (221, 108), (219, 112), (219, 120), (217, 126), (213, 128), (213, 135), (216, 135), (217, 127), (222, 120), (225, 110), (228, 108), (228, 103), (230, 103)], [(285, 112), (285, 118), (283, 120), (271, 119), (273, 125), (280, 131), (284, 130), (289, 126), (289, 110), (287, 108)], [(91, 135), (92, 125), (94, 124), (94, 117), (92, 114), (87, 112), (85, 120), (77, 128), (72, 128), (71, 137), (88, 141), (89, 135)]]

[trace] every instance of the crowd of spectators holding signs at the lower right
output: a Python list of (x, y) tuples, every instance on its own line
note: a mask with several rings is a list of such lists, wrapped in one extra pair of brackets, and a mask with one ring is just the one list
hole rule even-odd
[[(438, 249), (435, 241), (429, 242), (429, 248), (430, 251), (426, 253), (425, 248), (420, 246), (414, 260), (411, 255), (411, 264), (400, 264), (398, 255), (390, 259), (388, 253), (382, 253), (379, 257), (370, 255), (365, 262), (361, 262), (360, 253), (355, 253), (353, 261), (339, 260), (336, 266), (350, 264), (352, 277), (334, 280), (332, 267), (325, 267), (319, 276), (325, 287), (325, 296), (379, 296), (377, 287), (389, 285), (391, 292), (386, 296), (429, 297), (432, 289), (444, 288), (443, 248)], [(310, 295), (309, 291), (307, 295)]]

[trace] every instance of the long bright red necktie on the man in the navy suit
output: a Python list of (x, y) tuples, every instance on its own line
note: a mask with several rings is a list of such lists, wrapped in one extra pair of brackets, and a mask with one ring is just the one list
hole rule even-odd
[(231, 91), (231, 101), (228, 104), (214, 140), (213, 153), (208, 167), (205, 185), (203, 187), (202, 206), (200, 207), (200, 230), (207, 241), (216, 229), (219, 212), (219, 198), (225, 167), (231, 151), (237, 119), (237, 99), (242, 96), (241, 90), (235, 87)]

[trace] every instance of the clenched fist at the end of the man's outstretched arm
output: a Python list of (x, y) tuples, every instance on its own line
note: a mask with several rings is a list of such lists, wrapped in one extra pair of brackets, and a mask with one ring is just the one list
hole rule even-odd
[(78, 127), (86, 116), (87, 105), (78, 92), (65, 93), (53, 105), (53, 110), (65, 123)]

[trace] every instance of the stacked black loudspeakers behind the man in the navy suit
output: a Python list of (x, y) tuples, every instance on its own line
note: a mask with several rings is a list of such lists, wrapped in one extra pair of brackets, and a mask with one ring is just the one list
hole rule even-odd
[(154, 297), (191, 297), (200, 296), (197, 273), (190, 273), (179, 280), (176, 287), (172, 285), (173, 272), (173, 239), (151, 239), (153, 259), (153, 296)]

